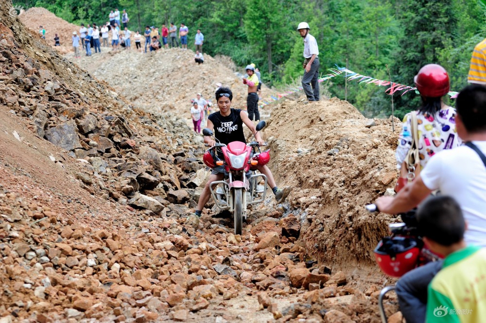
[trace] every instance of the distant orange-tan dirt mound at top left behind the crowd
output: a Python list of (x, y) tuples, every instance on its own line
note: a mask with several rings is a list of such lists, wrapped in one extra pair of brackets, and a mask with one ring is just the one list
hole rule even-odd
[(39, 26), (46, 30), (46, 42), (52, 47), (55, 47), (55, 34), (59, 36), (60, 47), (55, 47), (62, 54), (72, 51), (73, 31), (79, 35), (79, 26), (68, 23), (64, 19), (56, 17), (55, 14), (45, 8), (32, 7), (28, 10), (22, 10), (18, 15), (22, 23), (32, 29), (34, 34), (39, 35)]

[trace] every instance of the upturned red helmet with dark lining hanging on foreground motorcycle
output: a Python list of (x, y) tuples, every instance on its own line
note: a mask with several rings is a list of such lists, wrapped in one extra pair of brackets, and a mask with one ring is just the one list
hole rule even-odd
[(420, 245), (415, 238), (383, 238), (374, 249), (374, 258), (385, 274), (401, 277), (415, 268), (421, 250)]

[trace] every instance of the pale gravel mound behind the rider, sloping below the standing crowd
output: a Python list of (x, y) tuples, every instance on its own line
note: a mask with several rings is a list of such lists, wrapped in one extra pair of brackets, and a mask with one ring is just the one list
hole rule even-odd
[[(196, 64), (191, 50), (162, 49), (147, 54), (134, 49), (117, 54), (104, 53), (105, 48), (102, 51), (92, 57), (74, 59), (69, 54), (67, 58), (108, 82), (144, 111), (176, 112), (190, 118), (190, 100), (201, 93), (214, 102), (216, 83), (230, 87), (236, 103), (234, 107), (246, 109), (248, 87), (232, 70), (207, 54), (203, 64)], [(262, 91), (264, 96), (274, 95), (265, 85)], [(265, 111), (268, 109), (266, 107)]]

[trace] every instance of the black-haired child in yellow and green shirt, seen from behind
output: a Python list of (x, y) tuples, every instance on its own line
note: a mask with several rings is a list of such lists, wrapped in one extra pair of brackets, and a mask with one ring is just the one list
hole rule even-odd
[(447, 196), (431, 198), (419, 207), (417, 223), (430, 250), (445, 256), (429, 285), (427, 323), (483, 321), (486, 249), (464, 241), (467, 223), (459, 204)]

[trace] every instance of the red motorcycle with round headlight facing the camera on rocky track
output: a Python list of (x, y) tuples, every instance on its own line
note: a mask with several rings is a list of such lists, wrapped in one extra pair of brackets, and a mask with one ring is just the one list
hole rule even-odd
[[(265, 121), (256, 125), (260, 131), (266, 126)], [(216, 206), (233, 214), (235, 234), (241, 234), (243, 220), (247, 218), (247, 207), (263, 202), (267, 191), (267, 176), (256, 170), (257, 165), (270, 161), (267, 151), (261, 152), (256, 141), (244, 143), (233, 141), (228, 145), (220, 143), (208, 128), (203, 129), (204, 136), (213, 137), (217, 143), (206, 150), (204, 163), (211, 167), (223, 166), (225, 178), (214, 181), (209, 186)], [(267, 145), (267, 144), (264, 144)]]

